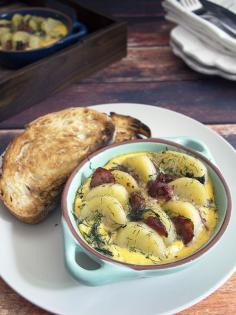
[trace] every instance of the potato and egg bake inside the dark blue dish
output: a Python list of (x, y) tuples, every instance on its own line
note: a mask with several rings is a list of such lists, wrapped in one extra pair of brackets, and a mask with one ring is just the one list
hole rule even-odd
[(0, 50), (24, 51), (47, 47), (68, 34), (60, 20), (30, 14), (0, 19)]

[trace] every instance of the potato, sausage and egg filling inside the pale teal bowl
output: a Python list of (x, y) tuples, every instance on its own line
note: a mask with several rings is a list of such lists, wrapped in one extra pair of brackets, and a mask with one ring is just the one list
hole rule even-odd
[(74, 216), (96, 251), (136, 265), (190, 256), (218, 220), (205, 165), (168, 150), (121, 155), (97, 168), (77, 191)]

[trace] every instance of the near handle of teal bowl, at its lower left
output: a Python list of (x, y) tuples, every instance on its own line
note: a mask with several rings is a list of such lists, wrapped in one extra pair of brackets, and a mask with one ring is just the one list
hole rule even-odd
[[(86, 249), (74, 239), (64, 218), (62, 218), (62, 225), (64, 232), (65, 264), (75, 279), (84, 284), (96, 286), (141, 276), (142, 272), (116, 263), (104, 261), (92, 254), (88, 255)], [(91, 270), (80, 265), (78, 260), (76, 260), (76, 256), (79, 257), (81, 253), (85, 254), (87, 256), (86, 258), (89, 259), (90, 262), (93, 262), (93, 265), (96, 264), (97, 268)]]

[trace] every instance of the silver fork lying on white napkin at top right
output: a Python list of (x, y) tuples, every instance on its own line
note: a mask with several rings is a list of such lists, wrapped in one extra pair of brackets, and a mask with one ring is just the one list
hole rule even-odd
[(205, 20), (213, 23), (232, 37), (236, 37), (236, 29), (224, 23), (213, 12), (207, 11), (199, 0), (179, 0), (180, 4), (188, 11), (202, 16)]

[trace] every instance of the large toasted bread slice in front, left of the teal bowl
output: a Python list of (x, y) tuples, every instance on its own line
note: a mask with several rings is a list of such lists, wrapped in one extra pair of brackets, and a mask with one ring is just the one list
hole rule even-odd
[(113, 140), (109, 116), (70, 108), (30, 123), (8, 147), (0, 195), (21, 221), (37, 223), (55, 206), (63, 184), (88, 154)]

